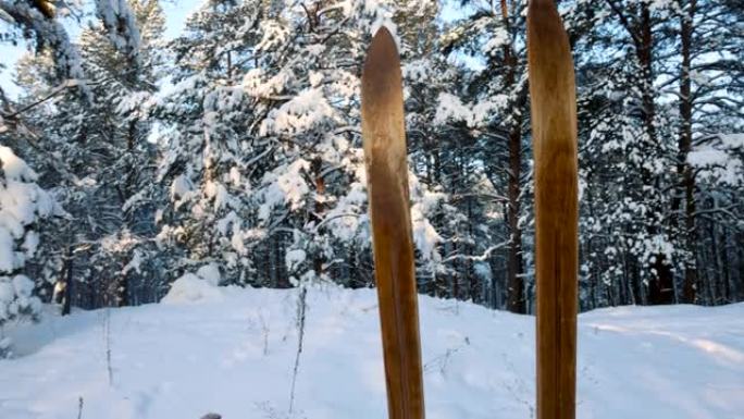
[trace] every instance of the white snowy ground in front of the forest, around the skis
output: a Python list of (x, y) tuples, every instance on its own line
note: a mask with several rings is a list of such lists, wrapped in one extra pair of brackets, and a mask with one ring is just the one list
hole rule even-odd
[[(0, 418), (75, 419), (80, 397), (84, 419), (386, 417), (373, 289), (309, 292), (293, 412), (298, 292), (184, 301), (202, 294), (10, 331)], [(533, 417), (534, 319), (420, 301), (427, 418)], [(579, 418), (744, 418), (743, 319), (742, 304), (582, 315)]]

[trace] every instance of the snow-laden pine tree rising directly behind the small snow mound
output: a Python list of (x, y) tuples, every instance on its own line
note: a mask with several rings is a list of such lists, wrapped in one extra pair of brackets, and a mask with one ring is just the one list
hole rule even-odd
[(218, 262), (233, 282), (258, 283), (249, 256), (263, 232), (253, 227), (247, 201), (271, 148), (255, 136), (259, 115), (238, 70), (255, 65), (263, 3), (210, 1), (170, 46), (175, 86), (153, 114), (163, 127), (158, 181), (170, 185), (158, 241), (173, 278)]

